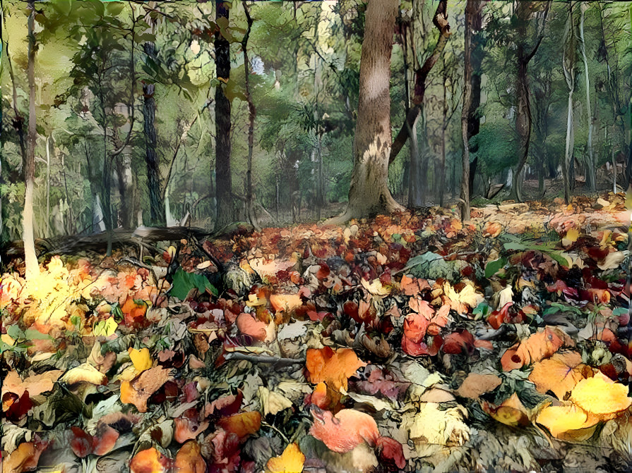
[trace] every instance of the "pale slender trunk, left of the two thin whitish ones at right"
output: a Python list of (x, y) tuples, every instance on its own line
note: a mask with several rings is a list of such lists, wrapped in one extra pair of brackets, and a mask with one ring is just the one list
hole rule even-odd
[(571, 168), (573, 167), (573, 92), (575, 91), (575, 25), (573, 25), (573, 2), (568, 6), (568, 19), (566, 20), (566, 30), (564, 32), (564, 56), (562, 58), (562, 68), (564, 78), (568, 85), (568, 113), (566, 114), (566, 148), (564, 161), (562, 161), (562, 173), (564, 178), (564, 201), (566, 204), (571, 200)]

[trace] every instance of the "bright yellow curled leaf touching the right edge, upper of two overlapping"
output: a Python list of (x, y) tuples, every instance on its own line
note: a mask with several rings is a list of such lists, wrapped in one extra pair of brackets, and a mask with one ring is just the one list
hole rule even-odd
[(612, 419), (632, 404), (628, 388), (606, 379), (601, 374), (583, 379), (571, 392), (571, 401), (602, 420)]

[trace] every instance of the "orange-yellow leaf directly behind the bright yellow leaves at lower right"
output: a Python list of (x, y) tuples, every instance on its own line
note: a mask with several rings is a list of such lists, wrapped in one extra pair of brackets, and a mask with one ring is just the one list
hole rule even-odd
[(573, 391), (579, 381), (587, 377), (585, 374), (592, 376), (592, 369), (582, 364), (579, 353), (556, 353), (548, 360), (533, 365), (529, 381), (535, 384), (540, 393), (552, 391), (561, 400), (568, 391)]

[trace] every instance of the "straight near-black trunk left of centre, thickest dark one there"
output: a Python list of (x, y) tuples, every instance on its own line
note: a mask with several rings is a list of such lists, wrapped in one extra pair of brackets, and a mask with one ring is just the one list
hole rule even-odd
[[(223, 0), (215, 1), (215, 20), (228, 20), (229, 5)], [(230, 77), (230, 44), (215, 32), (215, 68), (217, 79), (227, 82)], [(215, 88), (215, 186), (217, 192), (217, 217), (215, 230), (224, 228), (233, 221), (232, 180), (230, 173), (230, 101), (224, 93), (225, 85)]]

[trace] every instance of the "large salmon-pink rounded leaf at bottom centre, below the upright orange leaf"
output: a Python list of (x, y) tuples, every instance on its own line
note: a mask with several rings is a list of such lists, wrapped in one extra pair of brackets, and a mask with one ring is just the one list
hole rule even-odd
[(312, 407), (314, 425), (309, 434), (338, 453), (350, 452), (362, 442), (374, 446), (380, 433), (375, 419), (353, 409), (343, 409), (335, 416), (328, 410)]

